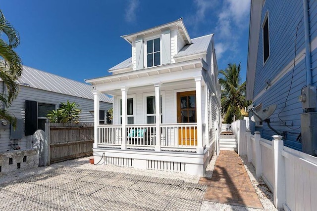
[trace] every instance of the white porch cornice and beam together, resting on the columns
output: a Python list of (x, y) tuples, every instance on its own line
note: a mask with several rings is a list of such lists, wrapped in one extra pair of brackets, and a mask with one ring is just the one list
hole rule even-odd
[(204, 60), (195, 59), (90, 79), (86, 82), (94, 85), (96, 90), (112, 94), (111, 92), (122, 87), (153, 87), (156, 83), (167, 84), (193, 80), (195, 77), (202, 76), (202, 71), (206, 69), (208, 68)]

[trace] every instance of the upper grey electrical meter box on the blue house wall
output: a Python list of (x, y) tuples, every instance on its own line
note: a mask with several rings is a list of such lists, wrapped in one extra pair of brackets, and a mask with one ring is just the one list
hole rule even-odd
[(315, 85), (309, 85), (302, 88), (301, 101), (303, 109), (317, 107), (317, 94)]

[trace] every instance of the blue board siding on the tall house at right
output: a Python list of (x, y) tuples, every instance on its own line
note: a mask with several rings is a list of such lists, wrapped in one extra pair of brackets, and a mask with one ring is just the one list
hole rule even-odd
[[(309, 8), (311, 41), (313, 41), (317, 37), (317, 1), (310, 0)], [(263, 64), (262, 23), (267, 11), (270, 55), (266, 63)], [(298, 32), (296, 35), (297, 26)], [(294, 60), (295, 50), (296, 55), (305, 50), (303, 1), (265, 0), (260, 27), (254, 97), (264, 90), (266, 80), (272, 81), (287, 64)], [(297, 38), (296, 49), (295, 38)], [(317, 85), (317, 49), (312, 49), (312, 76), (313, 84)], [(296, 141), (296, 138), (301, 132), (301, 114), (303, 113), (302, 104), (298, 102), (298, 97), (305, 85), (306, 63), (304, 58), (296, 64), (294, 69), (289, 71), (276, 84), (269, 87), (264, 94), (253, 102), (255, 106), (262, 103), (263, 108), (271, 104), (277, 105), (276, 111), (271, 116), (270, 125), (279, 132), (286, 132), (285, 145), (297, 150), (302, 148), (302, 144)], [(285, 121), (287, 124), (291, 123), (291, 125), (286, 127), (282, 123)], [(271, 140), (271, 136), (275, 134), (267, 127), (266, 123), (263, 127), (255, 127), (254, 124), (250, 124), (250, 129), (252, 132), (260, 131), (262, 137), (268, 140)]]

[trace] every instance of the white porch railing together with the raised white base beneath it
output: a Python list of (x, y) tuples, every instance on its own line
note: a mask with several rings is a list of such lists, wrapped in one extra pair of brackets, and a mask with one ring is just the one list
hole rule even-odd
[[(206, 138), (203, 149), (198, 147), (197, 123), (160, 124), (159, 130), (155, 124), (99, 125), (97, 129), (99, 139), (93, 148), (96, 164), (202, 176), (215, 147), (215, 142)], [(197, 153), (200, 150), (202, 153)]]

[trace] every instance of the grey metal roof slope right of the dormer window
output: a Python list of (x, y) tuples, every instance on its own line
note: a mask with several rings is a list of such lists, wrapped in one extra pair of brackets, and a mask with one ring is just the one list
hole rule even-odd
[(174, 58), (207, 52), (213, 34), (192, 39), (192, 44), (185, 45)]

